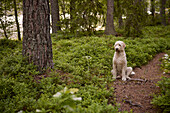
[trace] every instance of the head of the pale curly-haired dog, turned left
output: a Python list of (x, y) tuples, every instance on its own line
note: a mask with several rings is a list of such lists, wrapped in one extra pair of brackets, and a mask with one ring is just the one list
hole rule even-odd
[(117, 41), (114, 45), (114, 49), (116, 52), (124, 51), (125, 47), (126, 47), (126, 45), (123, 41)]

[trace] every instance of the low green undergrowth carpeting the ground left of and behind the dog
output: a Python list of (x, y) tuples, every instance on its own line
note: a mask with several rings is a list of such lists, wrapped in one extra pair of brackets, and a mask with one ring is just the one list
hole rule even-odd
[(170, 48), (169, 35), (162, 30), (168, 27), (150, 31), (162, 31), (158, 37), (147, 31), (145, 37), (135, 39), (52, 37), (55, 66), (44, 74), (22, 57), (22, 42), (0, 40), (0, 112), (119, 112), (110, 86), (114, 82), (110, 73), (114, 43), (126, 43), (128, 66), (141, 66)]

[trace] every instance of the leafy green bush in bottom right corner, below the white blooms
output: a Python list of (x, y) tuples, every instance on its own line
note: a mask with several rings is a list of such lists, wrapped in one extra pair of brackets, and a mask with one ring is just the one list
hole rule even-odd
[(163, 113), (170, 112), (170, 78), (163, 77), (158, 82), (158, 86), (161, 88), (161, 94), (155, 96), (152, 100), (152, 104), (162, 109)]

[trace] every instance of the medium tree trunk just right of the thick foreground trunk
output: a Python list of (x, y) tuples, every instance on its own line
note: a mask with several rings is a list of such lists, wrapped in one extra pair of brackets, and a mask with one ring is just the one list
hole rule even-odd
[(52, 15), (52, 33), (57, 33), (61, 30), (59, 25), (60, 15), (59, 15), (59, 6), (58, 0), (50, 0), (51, 2), (51, 15)]

